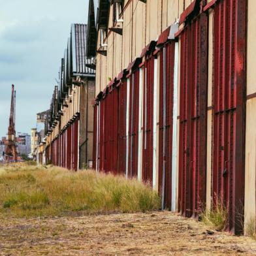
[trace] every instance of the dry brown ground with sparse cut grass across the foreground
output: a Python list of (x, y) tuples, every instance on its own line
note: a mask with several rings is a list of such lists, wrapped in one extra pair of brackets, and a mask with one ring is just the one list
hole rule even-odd
[(256, 255), (256, 242), (170, 212), (0, 219), (0, 255)]

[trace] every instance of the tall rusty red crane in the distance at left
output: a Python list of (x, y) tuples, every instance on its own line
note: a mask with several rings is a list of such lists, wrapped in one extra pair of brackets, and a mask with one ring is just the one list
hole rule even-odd
[(17, 161), (17, 148), (16, 148), (16, 131), (15, 131), (15, 113), (16, 113), (16, 91), (12, 84), (12, 97), (10, 101), (10, 118), (8, 127), (8, 138), (5, 148), (5, 161)]

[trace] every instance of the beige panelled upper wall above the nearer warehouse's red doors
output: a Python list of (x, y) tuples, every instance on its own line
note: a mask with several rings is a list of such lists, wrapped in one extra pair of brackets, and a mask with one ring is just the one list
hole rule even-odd
[[(98, 34), (97, 49), (106, 49), (107, 56), (97, 54), (95, 94), (103, 91), (110, 79), (127, 68), (142, 49), (152, 40), (157, 40), (162, 31), (178, 20), (180, 14), (190, 5), (191, 0), (127, 0), (124, 4), (123, 35), (108, 31), (104, 42), (107, 47), (100, 47)], [(113, 27), (113, 5), (110, 7), (108, 28)]]

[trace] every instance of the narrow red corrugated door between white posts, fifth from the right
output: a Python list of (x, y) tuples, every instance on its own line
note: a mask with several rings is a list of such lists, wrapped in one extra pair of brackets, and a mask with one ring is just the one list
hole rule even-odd
[(138, 100), (140, 71), (130, 76), (128, 176), (138, 175)]

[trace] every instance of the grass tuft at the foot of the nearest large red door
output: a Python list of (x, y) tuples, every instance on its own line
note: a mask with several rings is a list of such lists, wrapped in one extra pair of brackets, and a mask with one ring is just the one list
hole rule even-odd
[(211, 210), (202, 213), (202, 222), (215, 229), (216, 231), (224, 231), (227, 225), (227, 209), (220, 200), (216, 202), (216, 206)]

